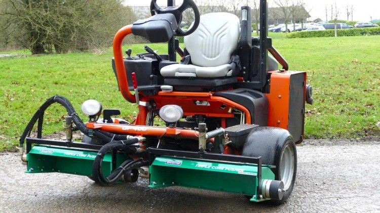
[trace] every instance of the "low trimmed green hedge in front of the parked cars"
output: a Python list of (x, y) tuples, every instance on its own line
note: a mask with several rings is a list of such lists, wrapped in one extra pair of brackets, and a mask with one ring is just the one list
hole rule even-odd
[[(338, 29), (337, 36), (360, 36), (360, 35), (380, 35), (380, 27), (368, 28), (351, 28), (351, 29)], [(286, 35), (287, 38), (308, 38), (308, 37), (333, 37), (334, 30), (313, 30), (313, 31), (300, 31), (291, 32)]]

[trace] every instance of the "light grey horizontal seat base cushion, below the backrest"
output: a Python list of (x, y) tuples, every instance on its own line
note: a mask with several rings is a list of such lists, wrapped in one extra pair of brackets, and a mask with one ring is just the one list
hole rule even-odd
[(161, 68), (164, 77), (224, 77), (232, 74), (231, 65), (200, 67), (192, 64), (172, 64)]

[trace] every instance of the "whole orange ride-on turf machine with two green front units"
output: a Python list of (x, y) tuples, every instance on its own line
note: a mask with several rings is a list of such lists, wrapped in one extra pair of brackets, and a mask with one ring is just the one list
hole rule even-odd
[[(152, 16), (123, 27), (113, 40), (119, 90), (138, 106), (134, 124), (96, 100), (83, 103), (89, 117), (83, 122), (66, 98), (51, 97), (20, 138), (26, 173), (83, 175), (102, 186), (145, 176), (152, 188), (183, 186), (285, 202), (294, 186), (305, 102), (313, 99), (306, 72), (288, 71), (272, 46), (267, 1), (260, 0), (259, 37), (251, 36), (248, 6), (239, 19), (230, 13), (201, 16), (193, 0), (173, 4), (168, 0), (162, 8), (152, 0)], [(181, 15), (189, 8), (195, 20), (183, 31)], [(168, 54), (145, 46), (146, 53), (131, 56), (128, 49), (123, 56), (128, 34), (168, 42)], [(184, 36), (184, 50), (175, 36)], [(44, 112), (53, 103), (68, 112), (65, 141), (42, 138)], [(73, 131), (84, 134), (82, 142), (72, 141)]]

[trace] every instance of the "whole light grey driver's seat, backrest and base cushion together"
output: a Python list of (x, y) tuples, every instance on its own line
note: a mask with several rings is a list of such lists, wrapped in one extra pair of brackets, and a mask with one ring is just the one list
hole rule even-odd
[(172, 64), (163, 67), (164, 77), (231, 76), (229, 64), (240, 36), (239, 18), (231, 13), (209, 13), (201, 16), (192, 34), (184, 37), (192, 65)]

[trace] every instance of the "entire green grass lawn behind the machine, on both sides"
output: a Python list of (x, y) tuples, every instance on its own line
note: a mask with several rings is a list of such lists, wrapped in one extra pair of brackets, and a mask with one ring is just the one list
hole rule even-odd
[[(300, 39), (282, 39), (283, 33), (270, 36), (290, 69), (306, 70), (314, 88), (315, 104), (306, 109), (306, 137), (356, 138), (379, 133), (378, 36)], [(165, 45), (150, 46), (159, 49), (159, 53), (167, 52)], [(143, 45), (131, 48), (133, 55), (144, 52)], [(97, 54), (0, 58), (0, 150), (14, 150), (32, 114), (55, 94), (68, 98), (84, 120), (86, 116), (80, 106), (87, 99), (100, 101), (104, 108), (119, 108), (121, 117), (131, 120), (136, 106), (125, 101), (118, 91), (111, 57), (111, 49), (107, 49)], [(44, 133), (63, 130), (66, 114), (59, 105), (48, 108)]]

